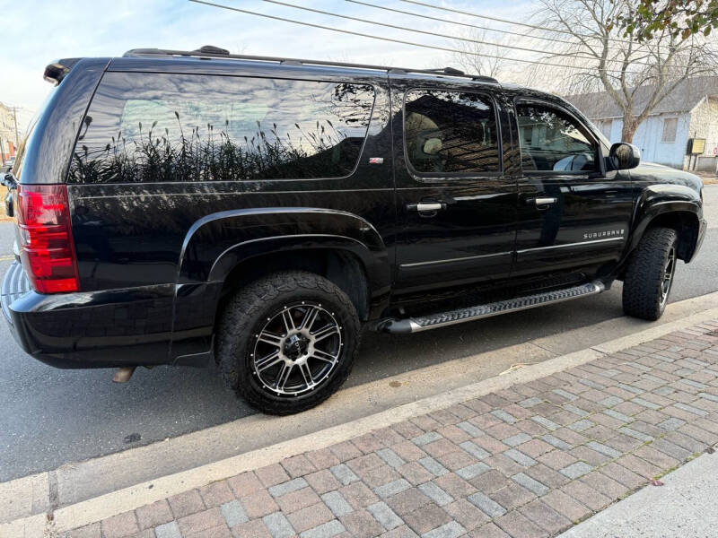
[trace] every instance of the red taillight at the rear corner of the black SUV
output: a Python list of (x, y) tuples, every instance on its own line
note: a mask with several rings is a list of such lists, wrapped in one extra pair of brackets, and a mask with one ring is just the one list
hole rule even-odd
[(39, 293), (78, 291), (70, 207), (65, 185), (20, 185), (20, 257)]

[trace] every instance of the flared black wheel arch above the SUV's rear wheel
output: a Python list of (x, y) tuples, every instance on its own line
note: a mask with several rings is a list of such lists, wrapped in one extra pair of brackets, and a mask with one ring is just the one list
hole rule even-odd
[(178, 283), (223, 282), (223, 297), (237, 285), (282, 269), (327, 277), (346, 292), (363, 319), (389, 299), (390, 260), (377, 230), (354, 213), (325, 208), (207, 215), (184, 240)]

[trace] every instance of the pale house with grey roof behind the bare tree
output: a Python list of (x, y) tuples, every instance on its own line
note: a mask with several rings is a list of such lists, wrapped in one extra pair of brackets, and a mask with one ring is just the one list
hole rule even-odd
[[(635, 111), (640, 113), (652, 92), (636, 91)], [(596, 124), (613, 142), (621, 142), (623, 116), (608, 92), (583, 93), (565, 98)], [(705, 151), (689, 156), (688, 141), (705, 139)], [(678, 169), (716, 171), (718, 165), (718, 77), (696, 77), (680, 82), (652, 110), (635, 131), (633, 142), (644, 161)]]

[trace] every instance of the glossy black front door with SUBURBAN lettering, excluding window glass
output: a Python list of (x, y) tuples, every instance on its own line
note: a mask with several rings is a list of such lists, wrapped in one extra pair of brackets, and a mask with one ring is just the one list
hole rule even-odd
[[(536, 97), (521, 95), (516, 103), (568, 112)], [(576, 115), (570, 117), (582, 124)], [(606, 168), (609, 149), (588, 129), (586, 135), (597, 150), (595, 169), (522, 173), (513, 276), (574, 272), (606, 277), (616, 269), (630, 230), (634, 186), (626, 171)], [(556, 198), (556, 203), (533, 203), (542, 197)]]

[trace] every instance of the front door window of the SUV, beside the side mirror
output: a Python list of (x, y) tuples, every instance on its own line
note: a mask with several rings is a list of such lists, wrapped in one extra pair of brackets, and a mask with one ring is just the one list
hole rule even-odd
[(596, 169), (598, 146), (585, 127), (556, 108), (516, 107), (524, 171), (580, 172)]

